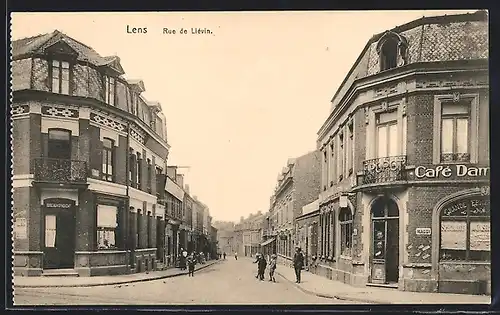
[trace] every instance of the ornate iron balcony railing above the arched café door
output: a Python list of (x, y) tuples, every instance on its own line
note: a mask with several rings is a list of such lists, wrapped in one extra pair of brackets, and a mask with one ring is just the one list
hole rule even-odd
[(363, 184), (406, 180), (406, 155), (388, 156), (363, 162)]

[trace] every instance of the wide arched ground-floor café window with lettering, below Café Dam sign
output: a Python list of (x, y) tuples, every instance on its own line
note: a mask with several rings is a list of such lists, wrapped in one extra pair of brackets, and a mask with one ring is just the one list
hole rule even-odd
[(474, 196), (446, 205), (440, 213), (440, 231), (441, 261), (489, 261), (489, 197)]

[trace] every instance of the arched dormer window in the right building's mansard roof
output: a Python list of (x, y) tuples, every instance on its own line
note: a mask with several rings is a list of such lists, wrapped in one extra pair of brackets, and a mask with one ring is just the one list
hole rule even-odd
[(394, 32), (385, 33), (377, 44), (380, 57), (380, 71), (389, 70), (407, 63), (408, 43), (404, 37)]

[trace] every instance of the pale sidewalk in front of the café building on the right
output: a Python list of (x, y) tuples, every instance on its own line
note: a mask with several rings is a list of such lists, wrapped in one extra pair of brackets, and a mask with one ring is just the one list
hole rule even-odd
[(276, 273), (290, 281), (300, 290), (320, 297), (350, 300), (371, 304), (490, 304), (486, 295), (466, 295), (452, 293), (408, 292), (377, 287), (353, 287), (329, 280), (313, 273), (302, 271), (302, 281), (295, 283), (295, 271), (278, 265)]

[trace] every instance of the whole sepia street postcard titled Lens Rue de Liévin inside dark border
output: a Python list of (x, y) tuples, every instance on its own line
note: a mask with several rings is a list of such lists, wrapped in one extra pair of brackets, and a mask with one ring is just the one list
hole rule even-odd
[(14, 306), (491, 303), (488, 11), (10, 30)]

